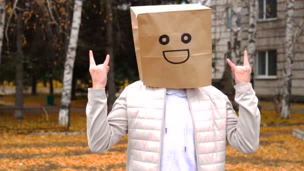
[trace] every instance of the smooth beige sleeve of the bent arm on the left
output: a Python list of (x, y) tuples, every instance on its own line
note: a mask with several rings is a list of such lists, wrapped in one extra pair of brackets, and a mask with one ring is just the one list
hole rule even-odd
[(126, 88), (121, 92), (107, 115), (104, 88), (88, 88), (86, 133), (92, 152), (104, 152), (127, 133)]

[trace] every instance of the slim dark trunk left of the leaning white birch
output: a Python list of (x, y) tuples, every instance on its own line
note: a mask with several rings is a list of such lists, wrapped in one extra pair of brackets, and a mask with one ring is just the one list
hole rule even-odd
[[(24, 0), (19, 0), (19, 7), (24, 7)], [(23, 119), (23, 51), (22, 51), (22, 44), (23, 44), (23, 26), (24, 21), (22, 19), (22, 10), (17, 9), (17, 25), (16, 25), (16, 46), (17, 46), (17, 53), (15, 57), (15, 118), (16, 119)]]

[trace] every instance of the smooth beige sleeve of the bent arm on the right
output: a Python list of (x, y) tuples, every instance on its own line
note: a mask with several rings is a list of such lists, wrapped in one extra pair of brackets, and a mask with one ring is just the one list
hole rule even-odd
[(234, 85), (235, 102), (239, 104), (238, 117), (226, 97), (227, 140), (234, 148), (244, 153), (254, 153), (259, 144), (260, 113), (257, 108), (258, 99), (251, 83)]

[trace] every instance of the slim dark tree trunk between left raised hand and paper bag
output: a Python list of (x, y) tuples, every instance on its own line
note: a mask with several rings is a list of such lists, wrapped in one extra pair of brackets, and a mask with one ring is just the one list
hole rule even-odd
[(110, 70), (107, 73), (107, 93), (108, 93), (108, 99), (107, 99), (107, 110), (108, 112), (111, 111), (113, 103), (116, 99), (116, 88), (115, 88), (115, 77), (114, 77), (114, 55), (113, 55), (113, 13), (112, 13), (112, 2), (111, 0), (106, 0), (105, 5), (105, 11), (106, 11), (106, 41), (107, 41), (107, 47), (106, 47), (106, 53), (109, 54), (110, 61), (109, 61), (109, 67)]

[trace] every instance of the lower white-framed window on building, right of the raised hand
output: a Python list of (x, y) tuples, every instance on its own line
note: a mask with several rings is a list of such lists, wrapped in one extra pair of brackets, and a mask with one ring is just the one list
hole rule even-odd
[(258, 51), (257, 78), (276, 78), (276, 50)]

